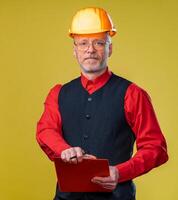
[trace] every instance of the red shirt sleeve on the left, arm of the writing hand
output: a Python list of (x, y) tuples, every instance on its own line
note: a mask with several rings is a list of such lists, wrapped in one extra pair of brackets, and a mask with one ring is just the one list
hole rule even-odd
[(44, 103), (44, 112), (37, 123), (36, 139), (51, 160), (59, 157), (63, 150), (70, 148), (62, 137), (62, 122), (58, 109), (61, 87), (56, 85), (50, 90)]

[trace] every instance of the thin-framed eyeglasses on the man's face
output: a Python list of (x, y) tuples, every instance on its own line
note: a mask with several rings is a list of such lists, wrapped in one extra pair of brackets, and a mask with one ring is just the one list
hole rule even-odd
[(103, 50), (107, 43), (108, 41), (104, 40), (94, 40), (91, 43), (88, 40), (74, 41), (74, 45), (76, 45), (77, 48), (81, 51), (88, 50), (91, 44), (96, 50)]

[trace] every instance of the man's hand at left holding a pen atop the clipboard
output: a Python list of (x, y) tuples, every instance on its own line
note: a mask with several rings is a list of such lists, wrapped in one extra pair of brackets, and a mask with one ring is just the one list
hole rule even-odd
[(80, 147), (72, 147), (62, 151), (61, 159), (64, 162), (77, 164), (78, 162), (82, 162), (83, 159), (96, 159), (96, 157), (93, 155), (85, 154), (85, 151)]

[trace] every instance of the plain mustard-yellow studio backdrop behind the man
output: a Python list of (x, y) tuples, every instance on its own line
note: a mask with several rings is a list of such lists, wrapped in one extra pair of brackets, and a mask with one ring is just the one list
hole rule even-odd
[(116, 25), (109, 66), (145, 88), (169, 162), (135, 179), (137, 200), (178, 199), (178, 1), (0, 0), (0, 199), (49, 200), (52, 162), (35, 141), (49, 89), (79, 75), (67, 36), (76, 10), (105, 8)]

